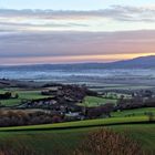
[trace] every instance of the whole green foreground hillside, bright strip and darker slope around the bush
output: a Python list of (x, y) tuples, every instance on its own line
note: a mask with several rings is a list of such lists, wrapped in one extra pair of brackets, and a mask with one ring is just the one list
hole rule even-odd
[[(154, 108), (148, 110), (154, 111)], [(146, 108), (137, 110), (142, 113), (144, 111)], [(124, 117), (122, 114), (111, 118), (0, 127), (0, 146), (14, 152), (24, 146), (28, 151), (34, 151), (35, 155), (72, 155), (89, 133), (101, 127), (125, 134), (137, 141), (147, 153), (155, 153), (155, 124), (148, 122), (148, 116), (140, 114), (130, 117)]]

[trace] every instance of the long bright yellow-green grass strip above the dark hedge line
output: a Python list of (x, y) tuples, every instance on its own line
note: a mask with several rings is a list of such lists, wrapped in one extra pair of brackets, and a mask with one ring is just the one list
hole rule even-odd
[(0, 132), (2, 131), (19, 132), (19, 131), (68, 130), (68, 128), (80, 128), (80, 127), (107, 126), (107, 125), (114, 125), (114, 124), (146, 123), (146, 122), (148, 122), (147, 116), (112, 117), (112, 118), (66, 122), (66, 123), (58, 123), (58, 124), (0, 127)]

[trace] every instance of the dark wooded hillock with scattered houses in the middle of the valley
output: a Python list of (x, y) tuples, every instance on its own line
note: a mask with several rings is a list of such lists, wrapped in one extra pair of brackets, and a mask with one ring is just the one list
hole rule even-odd
[[(61, 85), (51, 90), (42, 91), (41, 94), (50, 96), (39, 100), (25, 101), (23, 106), (29, 108), (35, 107), (55, 111), (61, 111), (61, 107), (65, 106), (71, 112), (80, 112), (81, 108), (76, 105), (76, 103), (81, 103), (86, 95), (97, 95), (96, 92), (90, 91), (85, 86), (78, 85)], [(51, 97), (51, 95), (53, 96)]]

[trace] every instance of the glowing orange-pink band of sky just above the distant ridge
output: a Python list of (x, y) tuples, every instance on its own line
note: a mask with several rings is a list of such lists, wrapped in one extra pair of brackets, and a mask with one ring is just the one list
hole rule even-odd
[[(137, 56), (155, 55), (155, 53), (132, 53), (113, 55), (74, 55), (74, 56), (35, 56), (35, 58), (9, 58), (9, 64), (35, 64), (35, 63), (79, 63), (79, 62), (113, 62), (134, 59)], [(1, 63), (6, 59), (1, 60)]]

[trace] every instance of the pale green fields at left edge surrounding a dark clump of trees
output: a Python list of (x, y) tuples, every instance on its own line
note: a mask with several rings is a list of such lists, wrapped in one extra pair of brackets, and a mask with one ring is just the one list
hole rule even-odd
[(12, 95), (18, 94), (19, 99), (10, 99), (10, 100), (0, 100), (0, 103), (2, 105), (17, 105), (20, 104), (21, 101), (23, 100), (37, 100), (37, 99), (44, 99), (44, 97), (49, 97), (45, 95), (41, 95), (41, 91), (24, 91), (24, 90), (0, 90), (0, 93), (6, 93), (7, 91), (10, 91), (12, 93)]

